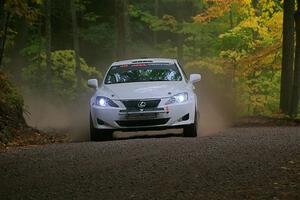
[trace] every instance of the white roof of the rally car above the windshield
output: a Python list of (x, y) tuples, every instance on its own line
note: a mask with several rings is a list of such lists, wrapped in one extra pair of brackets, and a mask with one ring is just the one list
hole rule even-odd
[(176, 63), (176, 59), (169, 58), (140, 58), (140, 59), (130, 59), (130, 60), (121, 60), (114, 62), (112, 66), (116, 65), (128, 65), (128, 64), (138, 64), (138, 63)]

